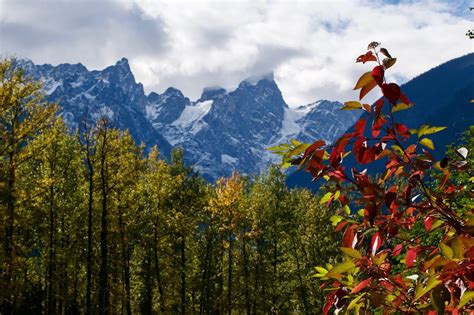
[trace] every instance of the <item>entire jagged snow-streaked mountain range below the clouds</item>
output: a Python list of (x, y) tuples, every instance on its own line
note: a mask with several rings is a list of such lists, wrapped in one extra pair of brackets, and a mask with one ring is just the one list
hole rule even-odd
[(331, 142), (357, 119), (355, 112), (339, 110), (338, 102), (289, 108), (272, 74), (245, 80), (230, 92), (205, 88), (191, 101), (172, 87), (146, 95), (125, 58), (101, 71), (81, 64), (19, 64), (43, 82), (47, 100), (62, 106), (72, 128), (86, 116), (106, 115), (137, 142), (156, 144), (165, 155), (172, 146), (182, 147), (187, 163), (209, 180), (233, 170), (258, 173), (278, 161), (268, 147), (290, 139)]

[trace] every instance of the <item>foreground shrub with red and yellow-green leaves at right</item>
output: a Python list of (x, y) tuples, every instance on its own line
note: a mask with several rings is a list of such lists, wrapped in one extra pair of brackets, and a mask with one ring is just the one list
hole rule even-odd
[[(333, 145), (294, 141), (289, 149), (273, 149), (284, 164), (298, 165), (313, 180), (326, 179), (321, 203), (340, 209), (331, 221), (343, 233), (344, 261), (317, 267), (315, 274), (327, 290), (324, 314), (472, 313), (473, 178), (467, 176), (468, 187), (455, 180), (470, 167), (468, 150), (436, 161), (427, 136), (445, 127), (410, 129), (397, 122), (396, 112), (413, 104), (397, 84), (386, 81), (395, 61), (377, 42), (357, 58), (377, 63), (354, 88), (360, 89), (360, 100), (374, 88), (383, 97), (373, 105), (344, 104), (344, 110), (366, 112), (352, 132)], [(350, 154), (360, 167), (344, 167)], [(369, 176), (361, 171), (378, 160), (385, 162), (384, 172)], [(471, 200), (462, 209), (453, 206), (459, 195)]]

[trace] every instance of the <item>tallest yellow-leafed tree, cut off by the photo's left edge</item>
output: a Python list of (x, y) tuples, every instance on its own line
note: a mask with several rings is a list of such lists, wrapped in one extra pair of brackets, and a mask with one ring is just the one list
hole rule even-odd
[(0, 62), (0, 155), (1, 208), (3, 212), (2, 309), (11, 314), (17, 300), (15, 280), (19, 276), (19, 257), (23, 255), (15, 244), (15, 222), (18, 197), (19, 167), (31, 156), (25, 145), (47, 128), (56, 106), (45, 103), (41, 86), (27, 77), (12, 60)]

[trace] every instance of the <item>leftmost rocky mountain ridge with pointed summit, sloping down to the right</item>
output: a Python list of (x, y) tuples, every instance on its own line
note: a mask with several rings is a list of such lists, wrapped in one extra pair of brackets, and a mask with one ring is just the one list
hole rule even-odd
[(170, 144), (144, 115), (148, 99), (127, 59), (102, 71), (89, 71), (80, 63), (53, 67), (21, 60), (19, 66), (43, 83), (46, 99), (61, 105), (61, 115), (71, 128), (107, 116), (115, 127), (128, 129), (138, 143), (170, 153)]

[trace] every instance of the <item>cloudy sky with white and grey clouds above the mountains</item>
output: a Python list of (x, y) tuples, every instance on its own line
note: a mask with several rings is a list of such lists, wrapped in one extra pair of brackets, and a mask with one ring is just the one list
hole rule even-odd
[(346, 101), (380, 41), (403, 83), (474, 51), (474, 0), (0, 0), (0, 54), (102, 69), (127, 57), (145, 89), (235, 88), (274, 73), (290, 105)]

